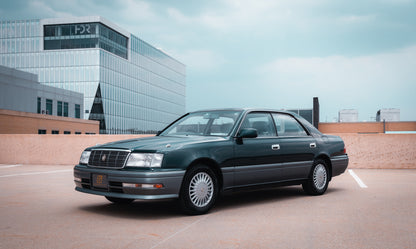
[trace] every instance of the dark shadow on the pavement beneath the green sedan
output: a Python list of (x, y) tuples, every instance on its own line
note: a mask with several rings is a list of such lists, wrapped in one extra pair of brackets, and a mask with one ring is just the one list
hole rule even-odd
[[(325, 195), (343, 191), (339, 188), (328, 188)], [(257, 190), (239, 190), (222, 194), (211, 213), (222, 210), (262, 205), (291, 199), (308, 198), (301, 186), (277, 187)], [(80, 206), (79, 209), (105, 216), (117, 216), (128, 219), (155, 220), (186, 216), (180, 209), (177, 200), (136, 200), (130, 204), (113, 204), (103, 198), (102, 203)]]

